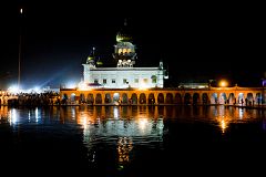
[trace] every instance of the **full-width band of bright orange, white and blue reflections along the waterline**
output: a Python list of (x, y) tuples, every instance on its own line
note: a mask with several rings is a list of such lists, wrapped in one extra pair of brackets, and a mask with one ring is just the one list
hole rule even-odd
[[(1, 121), (10, 125), (45, 124), (49, 119), (61, 124), (82, 125), (88, 136), (157, 136), (162, 138), (165, 119), (205, 122), (225, 133), (231, 123), (247, 123), (264, 118), (265, 111), (226, 106), (69, 106), (43, 108), (9, 108), (1, 106)], [(84, 139), (88, 143), (86, 139)]]

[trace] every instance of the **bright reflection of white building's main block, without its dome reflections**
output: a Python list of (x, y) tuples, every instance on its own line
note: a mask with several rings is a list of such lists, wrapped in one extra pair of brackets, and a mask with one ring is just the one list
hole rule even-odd
[[(113, 110), (112, 110), (113, 108)], [(79, 112), (78, 124), (81, 124), (85, 134), (99, 136), (162, 136), (163, 118), (149, 117), (147, 111), (122, 110), (122, 107), (89, 107)], [(110, 112), (112, 110), (113, 112)], [(90, 114), (93, 112), (93, 115)], [(116, 113), (120, 113), (119, 116)], [(144, 114), (145, 113), (145, 114)]]

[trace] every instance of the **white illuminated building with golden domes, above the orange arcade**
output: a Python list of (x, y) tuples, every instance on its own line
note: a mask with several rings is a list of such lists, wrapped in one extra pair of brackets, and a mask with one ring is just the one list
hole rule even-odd
[(132, 37), (129, 34), (127, 25), (116, 34), (116, 45), (114, 45), (113, 58), (116, 67), (103, 67), (95, 55), (94, 48), (89, 55), (86, 63), (83, 64), (84, 81), (80, 87), (88, 86), (125, 88), (125, 87), (163, 87), (165, 70), (163, 62), (156, 67), (135, 67), (136, 52), (132, 43)]

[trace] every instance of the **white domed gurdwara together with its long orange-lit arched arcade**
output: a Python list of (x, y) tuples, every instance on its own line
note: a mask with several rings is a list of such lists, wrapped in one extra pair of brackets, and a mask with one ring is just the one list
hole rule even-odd
[(212, 87), (208, 83), (186, 84), (165, 87), (167, 79), (163, 62), (157, 66), (139, 67), (141, 59), (132, 37), (125, 30), (116, 33), (112, 67), (103, 66), (95, 49), (85, 60), (83, 77), (74, 88), (60, 88), (60, 103), (65, 105), (262, 105), (264, 88)]

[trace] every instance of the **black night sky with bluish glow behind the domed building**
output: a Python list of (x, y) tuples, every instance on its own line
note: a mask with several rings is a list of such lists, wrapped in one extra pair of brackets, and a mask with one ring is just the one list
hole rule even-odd
[(170, 86), (222, 77), (232, 85), (258, 86), (265, 76), (262, 4), (17, 0), (0, 7), (1, 88), (18, 82), (20, 34), (21, 85), (58, 87), (81, 80), (81, 64), (93, 46), (105, 64), (113, 63), (115, 35), (125, 18), (136, 62), (157, 66), (163, 60)]

